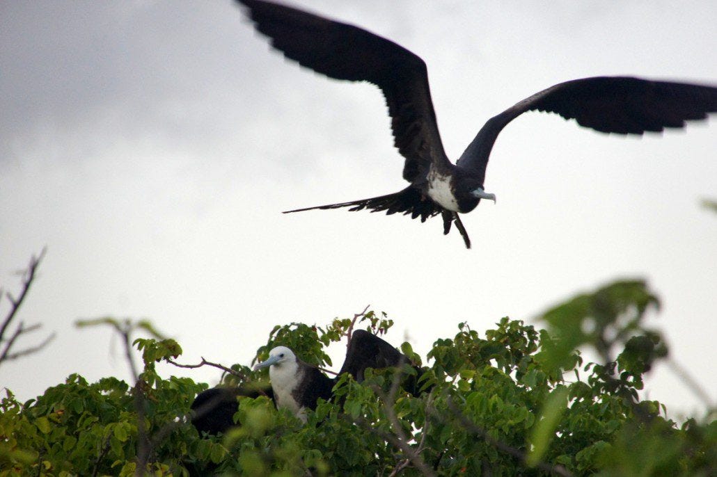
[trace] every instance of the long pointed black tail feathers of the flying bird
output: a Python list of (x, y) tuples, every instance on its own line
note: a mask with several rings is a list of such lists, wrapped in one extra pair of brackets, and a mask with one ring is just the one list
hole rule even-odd
[[(411, 218), (420, 217), (422, 222), (427, 218), (438, 215), (442, 208), (434, 201), (424, 198), (421, 191), (417, 188), (409, 186), (403, 191), (388, 194), (386, 196), (372, 197), (361, 199), (359, 201), (330, 203), (326, 206), (315, 206), (307, 208), (298, 208), (294, 211), (285, 211), (284, 213), (311, 211), (314, 209), (329, 209), (351, 207), (351, 212), (361, 211), (364, 208), (371, 212), (386, 211), (386, 215), (401, 212), (405, 215), (411, 214)], [(447, 232), (446, 232), (447, 233)]]

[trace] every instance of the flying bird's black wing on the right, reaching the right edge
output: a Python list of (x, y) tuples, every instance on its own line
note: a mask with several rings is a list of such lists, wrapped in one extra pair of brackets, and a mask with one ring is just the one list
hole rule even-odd
[(556, 112), (602, 133), (639, 134), (684, 127), (717, 111), (717, 88), (633, 77), (592, 77), (549, 87), (492, 117), (457, 165), (485, 178), (493, 143), (503, 127), (523, 112)]

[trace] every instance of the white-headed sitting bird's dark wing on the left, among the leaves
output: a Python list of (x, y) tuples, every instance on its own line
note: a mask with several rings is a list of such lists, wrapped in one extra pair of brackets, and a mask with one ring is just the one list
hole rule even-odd
[(202, 432), (216, 435), (233, 428), (234, 414), (237, 413), (237, 397), (267, 396), (274, 400), (271, 385), (260, 387), (212, 387), (202, 391), (191, 403), (191, 423), (201, 435)]

